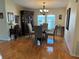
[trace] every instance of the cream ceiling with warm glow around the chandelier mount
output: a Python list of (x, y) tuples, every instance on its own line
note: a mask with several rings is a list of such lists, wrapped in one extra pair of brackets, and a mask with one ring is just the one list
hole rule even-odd
[(13, 0), (16, 4), (38, 9), (42, 8), (43, 2), (46, 2), (46, 8), (62, 8), (66, 7), (68, 0)]

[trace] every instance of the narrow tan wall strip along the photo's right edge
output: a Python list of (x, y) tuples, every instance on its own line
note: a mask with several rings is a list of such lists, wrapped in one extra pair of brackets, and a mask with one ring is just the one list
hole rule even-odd
[(76, 16), (76, 30), (75, 30), (75, 49), (74, 49), (74, 53), (76, 56), (79, 57), (79, 2), (77, 3), (77, 16)]

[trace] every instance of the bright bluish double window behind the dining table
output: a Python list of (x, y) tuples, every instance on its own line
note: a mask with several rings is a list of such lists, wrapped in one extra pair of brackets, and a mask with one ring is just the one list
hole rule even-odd
[[(55, 28), (55, 15), (47, 15), (46, 21), (48, 23), (48, 30)], [(38, 15), (38, 25), (42, 25), (43, 23), (45, 23), (45, 16)]]

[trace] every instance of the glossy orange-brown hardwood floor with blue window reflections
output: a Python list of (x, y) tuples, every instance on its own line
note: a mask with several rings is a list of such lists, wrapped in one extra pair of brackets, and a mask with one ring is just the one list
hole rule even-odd
[(53, 36), (49, 36), (49, 42), (41, 46), (27, 38), (3, 42), (0, 43), (0, 55), (3, 59), (79, 59), (69, 55), (62, 37), (56, 36), (55, 41), (51, 39)]

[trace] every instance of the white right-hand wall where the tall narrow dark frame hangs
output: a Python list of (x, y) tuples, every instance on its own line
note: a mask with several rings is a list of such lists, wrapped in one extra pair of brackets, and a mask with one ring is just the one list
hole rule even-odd
[[(68, 4), (68, 8), (71, 8), (71, 14), (70, 14), (70, 22), (69, 22), (69, 30), (65, 28), (65, 41), (67, 44), (67, 47), (69, 49), (69, 52), (72, 56), (77, 56), (76, 55), (76, 43), (77, 39), (79, 39), (79, 27), (78, 27), (78, 22), (79, 22), (79, 12), (77, 11), (78, 4), (75, 2), (75, 0), (70, 0)], [(78, 16), (78, 18), (77, 18)], [(66, 21), (65, 21), (65, 26), (66, 26)], [(78, 48), (79, 50), (79, 48)]]

